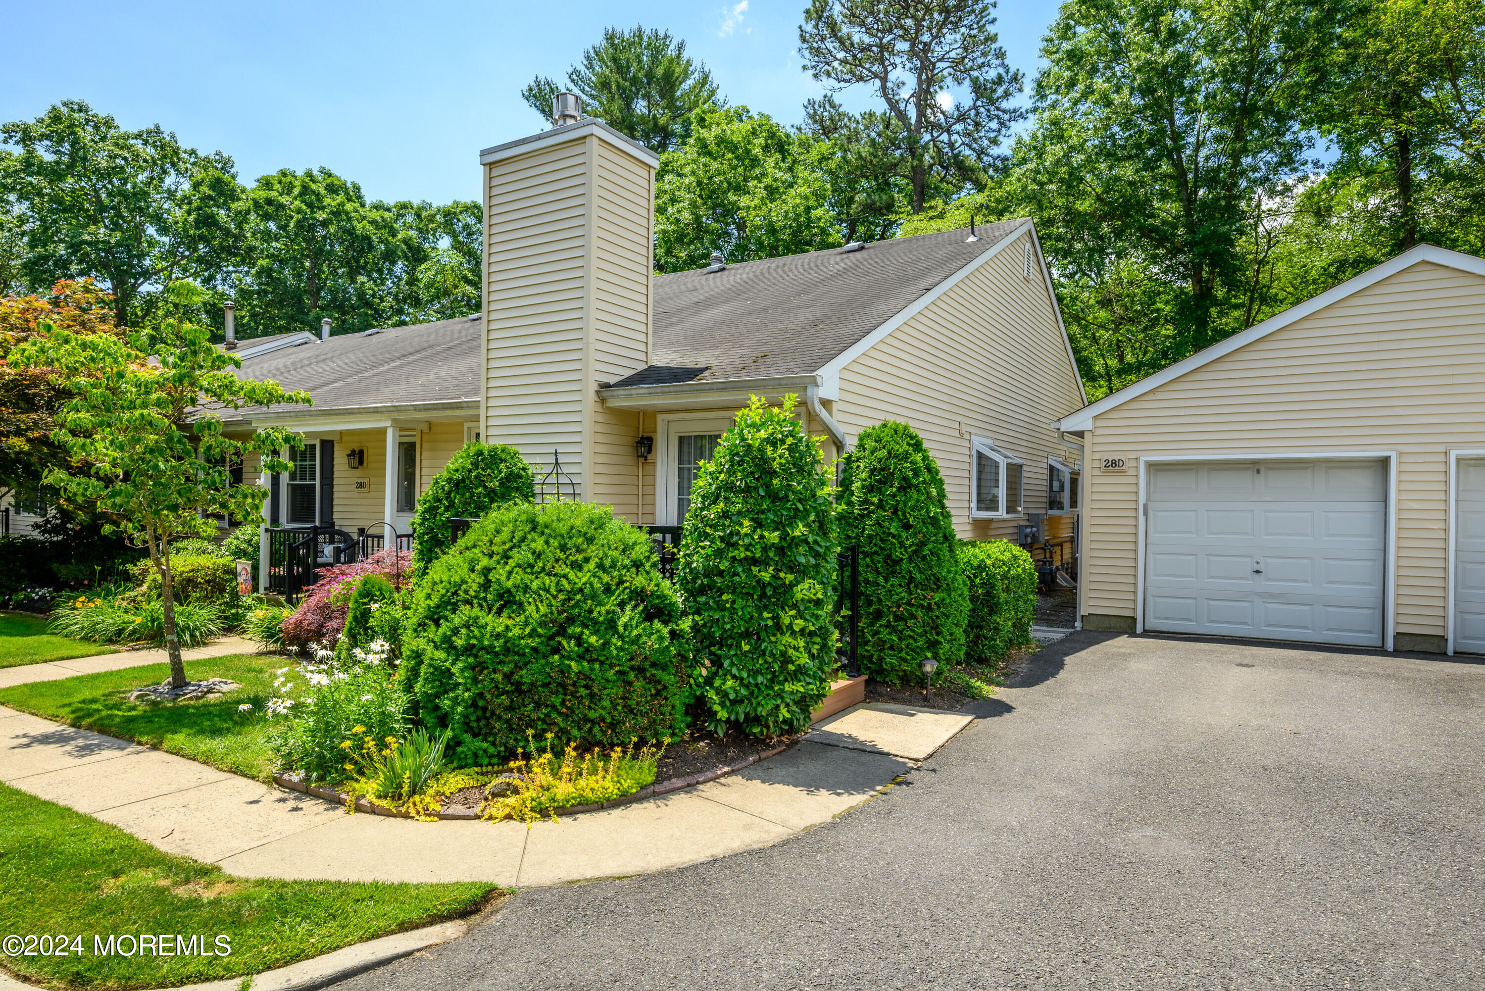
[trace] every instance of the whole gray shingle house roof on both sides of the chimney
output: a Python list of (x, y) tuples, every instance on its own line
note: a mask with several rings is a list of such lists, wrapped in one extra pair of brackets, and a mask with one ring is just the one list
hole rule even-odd
[[(811, 374), (1022, 223), (985, 224), (974, 242), (947, 230), (656, 276), (652, 364), (612, 385)], [(239, 374), (306, 389), (316, 412), (477, 401), (481, 330), (460, 316), (340, 334), (257, 355)]]

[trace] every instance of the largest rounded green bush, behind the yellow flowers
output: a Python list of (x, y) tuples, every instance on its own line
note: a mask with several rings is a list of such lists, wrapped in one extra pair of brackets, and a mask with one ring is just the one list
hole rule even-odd
[(460, 767), (529, 737), (615, 746), (676, 737), (685, 617), (649, 538), (609, 507), (511, 504), (417, 582), (399, 678)]

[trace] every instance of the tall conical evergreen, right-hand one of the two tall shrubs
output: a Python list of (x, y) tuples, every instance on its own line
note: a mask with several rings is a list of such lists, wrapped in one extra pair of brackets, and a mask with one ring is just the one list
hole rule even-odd
[(890, 685), (916, 682), (919, 664), (964, 658), (968, 590), (943, 475), (907, 423), (857, 437), (841, 475), (841, 542), (860, 545), (860, 664)]

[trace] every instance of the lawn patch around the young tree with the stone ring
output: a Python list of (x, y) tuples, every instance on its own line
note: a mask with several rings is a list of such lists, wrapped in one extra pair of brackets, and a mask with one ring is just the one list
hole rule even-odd
[[(137, 740), (223, 771), (270, 782), (273, 756), (264, 713), (276, 672), (291, 664), (282, 657), (257, 654), (186, 661), (186, 675), (193, 680), (227, 678), (242, 685), (220, 701), (166, 706), (126, 701), (129, 689), (159, 685), (171, 673), (169, 664), (146, 664), (4, 688), (0, 689), (0, 706), (97, 730), (110, 737)], [(244, 703), (252, 704), (251, 713), (238, 712), (238, 706)]]

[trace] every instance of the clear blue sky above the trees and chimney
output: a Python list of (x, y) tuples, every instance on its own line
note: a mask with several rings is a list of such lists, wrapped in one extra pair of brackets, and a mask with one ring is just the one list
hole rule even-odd
[[(70, 3), (10, 6), (0, 120), (82, 98), (126, 128), (221, 150), (244, 181), (325, 165), (373, 199), (474, 199), (478, 150), (542, 128), (520, 100), (561, 80), (610, 24), (665, 28), (734, 104), (794, 123), (821, 86), (799, 68), (805, 0), (695, 3)], [(1002, 1), (1028, 83), (1050, 3)], [(56, 39), (58, 33), (65, 37)], [(53, 43), (53, 39), (56, 43)], [(864, 94), (846, 95), (866, 107)]]

